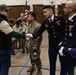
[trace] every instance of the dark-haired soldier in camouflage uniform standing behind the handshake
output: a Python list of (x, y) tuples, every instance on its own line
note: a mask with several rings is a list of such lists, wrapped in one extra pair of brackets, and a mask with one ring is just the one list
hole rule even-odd
[[(30, 22), (28, 27), (28, 33), (34, 33), (40, 28), (40, 24), (36, 21), (36, 14), (34, 12), (29, 13), (28, 22)], [(35, 65), (37, 67), (37, 75), (42, 75), (41, 72), (41, 59), (40, 59), (40, 45), (42, 42), (42, 35), (29, 40), (30, 58), (32, 66), (27, 70), (28, 72), (35, 70)]]

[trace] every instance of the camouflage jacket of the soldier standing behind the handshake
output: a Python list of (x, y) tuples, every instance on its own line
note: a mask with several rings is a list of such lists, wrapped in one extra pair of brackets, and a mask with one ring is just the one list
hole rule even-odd
[[(29, 24), (28, 33), (32, 34), (32, 33), (36, 32), (40, 28), (40, 26), (41, 25), (37, 21), (35, 21), (32, 24)], [(29, 42), (30, 48), (31, 49), (33, 47), (39, 48), (41, 45), (41, 42), (42, 42), (42, 35), (40, 35), (39, 37), (37, 37), (35, 39), (30, 39), (30, 42)]]

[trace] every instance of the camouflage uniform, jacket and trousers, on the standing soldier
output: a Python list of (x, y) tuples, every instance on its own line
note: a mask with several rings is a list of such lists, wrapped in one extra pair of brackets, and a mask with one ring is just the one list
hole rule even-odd
[[(40, 28), (40, 24), (35, 21), (33, 24), (29, 25), (28, 33), (34, 33), (39, 28)], [(40, 45), (41, 45), (41, 42), (42, 42), (42, 35), (35, 38), (35, 39), (30, 39), (30, 41), (29, 41), (31, 64), (32, 64), (32, 66), (36, 65), (38, 69), (41, 69), (41, 59), (40, 59)], [(37, 59), (32, 58), (34, 47), (36, 47), (35, 51), (38, 54)]]

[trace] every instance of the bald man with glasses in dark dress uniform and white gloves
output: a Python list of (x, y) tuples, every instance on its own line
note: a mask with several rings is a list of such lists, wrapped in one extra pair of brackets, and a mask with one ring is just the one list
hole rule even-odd
[(76, 57), (76, 2), (68, 1), (63, 10), (64, 14), (68, 16), (68, 20), (59, 53), (67, 60), (68, 75), (74, 75), (74, 66), (76, 66), (76, 59), (74, 59)]

